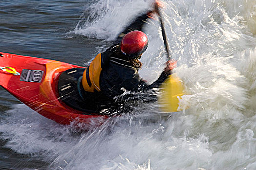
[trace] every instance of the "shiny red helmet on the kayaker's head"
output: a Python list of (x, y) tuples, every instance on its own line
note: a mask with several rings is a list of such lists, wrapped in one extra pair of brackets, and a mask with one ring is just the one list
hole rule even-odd
[(121, 41), (121, 51), (129, 58), (136, 59), (148, 47), (148, 37), (142, 31), (131, 31)]

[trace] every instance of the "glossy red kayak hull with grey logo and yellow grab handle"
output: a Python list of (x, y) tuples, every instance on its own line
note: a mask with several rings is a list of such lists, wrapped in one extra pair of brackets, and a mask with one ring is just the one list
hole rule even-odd
[(85, 67), (0, 52), (0, 85), (42, 116), (65, 125), (96, 123), (106, 118), (74, 109), (59, 100), (59, 77), (70, 69), (84, 70)]

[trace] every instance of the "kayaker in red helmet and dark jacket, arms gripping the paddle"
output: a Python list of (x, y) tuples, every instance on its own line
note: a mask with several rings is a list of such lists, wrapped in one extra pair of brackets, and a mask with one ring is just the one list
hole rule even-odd
[[(152, 88), (158, 88), (167, 76), (171, 74), (171, 70), (175, 68), (177, 61), (166, 62), (164, 71), (151, 85), (141, 79), (138, 73), (142, 66), (139, 59), (148, 47), (147, 35), (141, 30), (147, 19), (154, 17), (156, 14), (158, 15), (158, 8), (160, 7), (162, 7), (161, 2), (156, 0), (153, 10), (138, 16), (134, 22), (119, 34), (116, 40), (117, 44), (94, 58), (83, 72), (81, 80), (83, 90), (79, 91), (82, 101), (80, 101), (79, 105), (96, 113), (102, 112), (105, 114), (106, 110), (112, 110), (110, 113), (113, 113), (113, 108), (118, 110), (123, 107), (123, 103), (115, 101), (114, 98), (122, 95), (125, 90), (146, 92)], [(127, 96), (131, 97), (131, 95)], [(64, 102), (66, 100), (66, 103), (75, 101), (71, 98), (62, 100)], [(147, 100), (154, 102), (157, 98)]]

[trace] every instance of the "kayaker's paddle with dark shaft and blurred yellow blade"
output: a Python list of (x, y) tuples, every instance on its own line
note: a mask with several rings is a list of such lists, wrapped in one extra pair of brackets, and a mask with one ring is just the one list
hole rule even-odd
[[(164, 29), (164, 23), (162, 19), (162, 15), (160, 13), (160, 10), (158, 9), (160, 24), (162, 28), (162, 36), (163, 41), (165, 45), (165, 50), (167, 53), (167, 59), (171, 60), (170, 50), (168, 41), (166, 38), (166, 33)], [(181, 80), (172, 72), (171, 75), (168, 76), (168, 78), (164, 81), (164, 83), (161, 85), (162, 95), (159, 99), (159, 102), (161, 104), (161, 109), (164, 112), (177, 112), (180, 111), (179, 109), (179, 98), (181, 98), (182, 95), (184, 95), (184, 87), (182, 85)]]

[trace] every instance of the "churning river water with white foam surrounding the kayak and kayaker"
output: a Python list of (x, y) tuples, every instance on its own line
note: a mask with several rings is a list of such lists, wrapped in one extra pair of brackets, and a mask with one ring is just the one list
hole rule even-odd
[[(1, 0), (0, 51), (86, 65), (150, 0)], [(186, 95), (177, 113), (158, 103), (76, 131), (0, 89), (0, 169), (255, 170), (256, 1), (163, 0), (175, 71)], [(144, 28), (141, 76), (166, 54), (159, 20)]]

